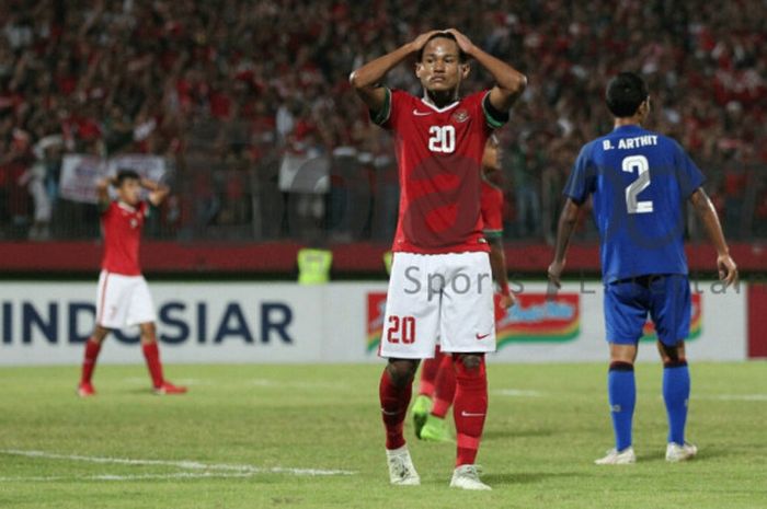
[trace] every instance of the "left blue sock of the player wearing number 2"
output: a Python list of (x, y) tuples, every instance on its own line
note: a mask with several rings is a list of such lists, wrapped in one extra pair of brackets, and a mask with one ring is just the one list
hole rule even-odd
[(607, 373), (607, 396), (615, 431), (615, 448), (618, 451), (631, 447), (631, 419), (637, 403), (637, 384), (633, 365), (613, 362)]

